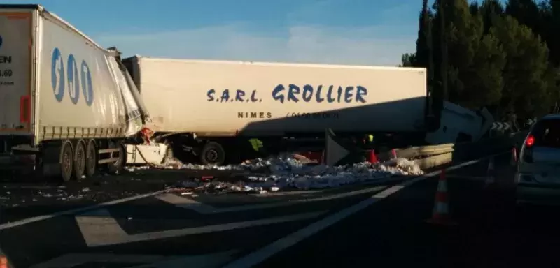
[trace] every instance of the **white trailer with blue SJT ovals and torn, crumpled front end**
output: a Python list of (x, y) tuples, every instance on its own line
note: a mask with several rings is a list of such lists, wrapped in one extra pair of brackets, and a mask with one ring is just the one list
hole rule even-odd
[(0, 162), (68, 181), (117, 171), (143, 127), (127, 72), (38, 5), (0, 5)]

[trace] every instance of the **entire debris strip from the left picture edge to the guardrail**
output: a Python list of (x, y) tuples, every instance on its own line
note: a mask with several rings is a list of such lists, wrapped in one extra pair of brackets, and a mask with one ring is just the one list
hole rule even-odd
[[(128, 168), (128, 174), (99, 176), (92, 180), (59, 183), (9, 182), (0, 184), (0, 206), (20, 204), (95, 203), (168, 189), (181, 195), (197, 193), (260, 193), (311, 188), (333, 188), (348, 184), (374, 182), (422, 170), (404, 158), (384, 163), (356, 163), (329, 167), (302, 156), (284, 155), (257, 158), (239, 165), (222, 167), (182, 164), (162, 168)], [(36, 200), (36, 201), (35, 201)]]

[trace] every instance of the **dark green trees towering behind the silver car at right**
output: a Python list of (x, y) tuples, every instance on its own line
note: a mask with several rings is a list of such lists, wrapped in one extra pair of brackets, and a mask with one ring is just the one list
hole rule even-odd
[(559, 0), (437, 0), (431, 8), (423, 0), (416, 52), (402, 66), (442, 73), (433, 75), (433, 96), (498, 117), (536, 117), (559, 101), (558, 33)]

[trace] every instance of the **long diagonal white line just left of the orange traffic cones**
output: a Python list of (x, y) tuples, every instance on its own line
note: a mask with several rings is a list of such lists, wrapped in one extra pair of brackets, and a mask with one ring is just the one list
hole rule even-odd
[[(507, 153), (509, 153), (509, 151), (507, 151)], [(500, 153), (500, 154), (505, 154), (505, 153)], [(494, 154), (494, 155), (486, 156), (484, 158), (480, 158), (480, 159), (477, 159), (477, 160), (468, 161), (468, 162), (461, 163), (461, 164), (458, 164), (458, 165), (453, 165), (451, 167), (444, 168), (444, 170), (446, 170), (446, 171), (456, 170), (458, 168), (463, 168), (463, 167), (468, 166), (468, 165), (479, 163), (480, 161), (486, 160), (487, 158), (490, 158), (490, 157), (493, 157), (493, 156), (498, 156), (500, 154)], [(302, 228), (302, 229), (297, 230), (297, 231), (295, 231), (291, 234), (288, 234), (287, 237), (283, 237), (279, 240), (276, 240), (272, 244), (268, 244), (267, 246), (265, 246), (263, 248), (260, 248), (258, 251), (253, 251), (253, 253), (249, 253), (248, 255), (245, 255), (242, 258), (234, 260), (233, 262), (228, 263), (228, 265), (225, 265), (223, 268), (253, 267), (255, 265), (258, 265), (258, 264), (260, 264), (260, 262), (265, 261), (267, 258), (270, 258), (272, 255), (275, 255), (276, 253), (279, 253), (280, 251), (283, 251), (286, 248), (289, 248), (290, 246), (294, 246), (295, 244), (299, 243), (300, 241), (302, 241), (304, 239), (307, 239), (308, 237), (311, 237), (311, 235), (316, 234), (316, 233), (320, 232), (321, 230), (324, 230), (325, 228), (328, 228), (329, 226), (334, 225), (335, 223), (338, 223), (339, 221), (342, 221), (344, 218), (348, 218), (349, 216), (352, 216), (353, 214), (355, 214), (358, 211), (361, 211), (361, 210), (363, 210), (367, 207), (370, 207), (372, 204), (377, 203), (379, 200), (383, 200), (384, 198), (388, 197), (389, 195), (392, 195), (393, 193), (396, 193), (396, 192), (402, 190), (402, 188), (405, 188), (407, 186), (411, 186), (412, 184), (414, 184), (418, 181), (423, 181), (423, 180), (428, 179), (430, 177), (437, 176), (440, 173), (441, 173), (441, 170), (437, 170), (437, 171), (425, 174), (423, 176), (416, 177), (414, 179), (409, 179), (407, 181), (402, 182), (402, 184), (398, 184), (398, 185), (392, 186), (390, 188), (387, 188), (385, 191), (382, 191), (381, 193), (377, 193), (377, 194), (373, 195), (371, 198), (367, 198), (366, 200), (363, 200), (362, 202), (359, 202), (358, 204), (354, 204), (351, 207), (348, 207), (346, 209), (342, 209), (341, 211), (338, 211), (335, 214), (330, 214), (330, 215), (326, 216), (325, 218), (321, 219), (320, 221), (316, 221), (315, 223), (311, 223), (311, 225), (308, 225), (305, 228)]]

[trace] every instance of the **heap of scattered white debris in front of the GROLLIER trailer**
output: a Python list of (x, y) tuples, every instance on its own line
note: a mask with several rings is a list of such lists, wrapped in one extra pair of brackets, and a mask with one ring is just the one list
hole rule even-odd
[[(265, 174), (249, 175), (248, 183), (227, 183), (221, 181), (203, 182), (183, 181), (181, 187), (221, 192), (252, 192), (280, 191), (281, 189), (297, 188), (333, 188), (348, 184), (380, 181), (397, 176), (418, 176), (423, 171), (416, 163), (405, 158), (393, 158), (384, 163), (356, 163), (330, 167), (327, 165), (307, 165), (306, 161), (293, 157), (255, 159), (240, 165), (174, 165), (171, 168), (195, 170), (242, 170)], [(309, 163), (309, 161), (307, 161)]]

